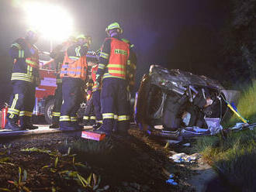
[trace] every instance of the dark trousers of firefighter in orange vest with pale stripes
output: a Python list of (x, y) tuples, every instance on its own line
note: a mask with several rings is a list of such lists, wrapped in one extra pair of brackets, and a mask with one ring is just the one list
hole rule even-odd
[(77, 122), (77, 111), (81, 105), (83, 81), (79, 78), (62, 79), (63, 104), (61, 105), (60, 125)]

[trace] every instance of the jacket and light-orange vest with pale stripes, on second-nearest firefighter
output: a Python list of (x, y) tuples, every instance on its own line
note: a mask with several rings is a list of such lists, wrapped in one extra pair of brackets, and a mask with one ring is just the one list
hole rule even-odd
[(85, 81), (88, 74), (88, 65), (86, 62), (87, 51), (87, 43), (82, 46), (75, 44), (67, 49), (61, 67), (61, 78), (72, 77)]

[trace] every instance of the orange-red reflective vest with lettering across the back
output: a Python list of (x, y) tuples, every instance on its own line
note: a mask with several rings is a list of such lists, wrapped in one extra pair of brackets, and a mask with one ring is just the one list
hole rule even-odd
[(122, 40), (111, 38), (109, 64), (103, 78), (116, 77), (126, 79), (126, 65), (130, 55), (130, 45)]

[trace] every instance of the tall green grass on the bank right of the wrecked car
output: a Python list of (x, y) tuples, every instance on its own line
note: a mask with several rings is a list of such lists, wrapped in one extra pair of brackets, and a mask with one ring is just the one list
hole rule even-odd
[[(237, 109), (256, 122), (256, 81), (241, 94)], [(241, 122), (233, 115), (225, 125)], [(200, 138), (195, 149), (237, 191), (256, 191), (256, 129)]]

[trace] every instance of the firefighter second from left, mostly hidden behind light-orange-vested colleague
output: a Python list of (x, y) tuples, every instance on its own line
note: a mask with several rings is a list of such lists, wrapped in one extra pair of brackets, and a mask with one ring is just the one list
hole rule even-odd
[(67, 41), (61, 43), (60, 45), (56, 46), (54, 50), (50, 53), (50, 57), (54, 59), (56, 63), (56, 84), (57, 88), (54, 93), (54, 108), (53, 108), (53, 124), (50, 125), (50, 129), (57, 129), (60, 127), (59, 120), (61, 116), (61, 105), (62, 105), (62, 80), (60, 77), (61, 74), (61, 65), (64, 60), (64, 54), (67, 50), (68, 46), (71, 46), (75, 41), (74, 36), (70, 36)]

